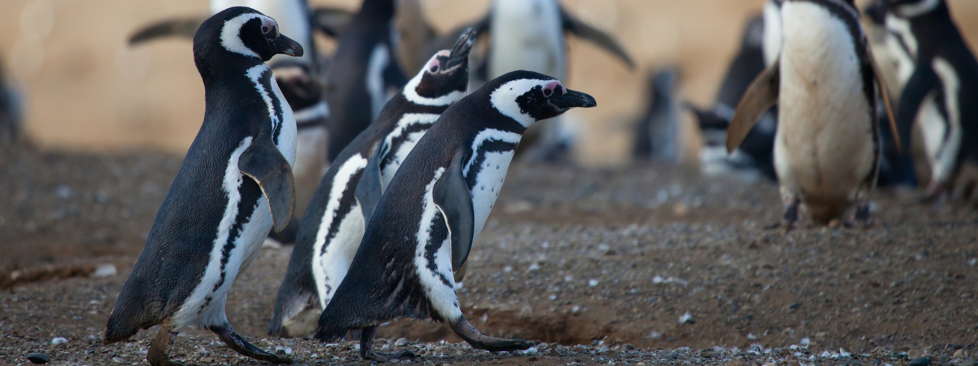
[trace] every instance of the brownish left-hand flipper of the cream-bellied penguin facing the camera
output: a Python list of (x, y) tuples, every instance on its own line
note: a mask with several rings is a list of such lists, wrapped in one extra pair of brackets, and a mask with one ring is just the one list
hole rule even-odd
[(750, 83), (733, 112), (727, 126), (727, 152), (733, 152), (761, 119), (761, 115), (778, 102), (780, 85), (780, 61), (768, 66)]

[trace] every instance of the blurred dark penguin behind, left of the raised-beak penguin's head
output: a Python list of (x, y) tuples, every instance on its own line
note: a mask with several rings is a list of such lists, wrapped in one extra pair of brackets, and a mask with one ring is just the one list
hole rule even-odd
[(326, 74), (331, 162), (408, 82), (394, 54), (393, 18), (394, 0), (364, 0), (360, 12), (339, 36)]

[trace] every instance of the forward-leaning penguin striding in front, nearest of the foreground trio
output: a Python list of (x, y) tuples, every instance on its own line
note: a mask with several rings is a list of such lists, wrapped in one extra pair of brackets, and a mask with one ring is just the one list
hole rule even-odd
[(447, 323), (479, 349), (532, 346), (486, 337), (471, 326), (452, 271), (466, 263), (526, 128), (569, 108), (595, 105), (591, 96), (550, 76), (513, 71), (445, 110), (387, 184), (315, 338), (333, 342), (349, 329), (362, 329), (363, 358), (411, 356), (407, 350), (380, 354), (374, 338), (381, 323), (413, 317)]

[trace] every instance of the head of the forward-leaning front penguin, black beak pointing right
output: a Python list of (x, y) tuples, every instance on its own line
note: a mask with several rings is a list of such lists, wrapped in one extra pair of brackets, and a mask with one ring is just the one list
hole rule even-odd
[(511, 71), (480, 90), (490, 91), (492, 106), (523, 127), (554, 118), (573, 107), (598, 106), (594, 97), (567, 89), (560, 80), (533, 71)]

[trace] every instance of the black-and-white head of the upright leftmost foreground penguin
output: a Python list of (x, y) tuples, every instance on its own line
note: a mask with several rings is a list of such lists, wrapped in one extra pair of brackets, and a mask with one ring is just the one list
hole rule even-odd
[(215, 14), (200, 24), (194, 36), (195, 60), (222, 55), (269, 61), (279, 54), (302, 56), (302, 46), (280, 34), (277, 21), (247, 7)]

